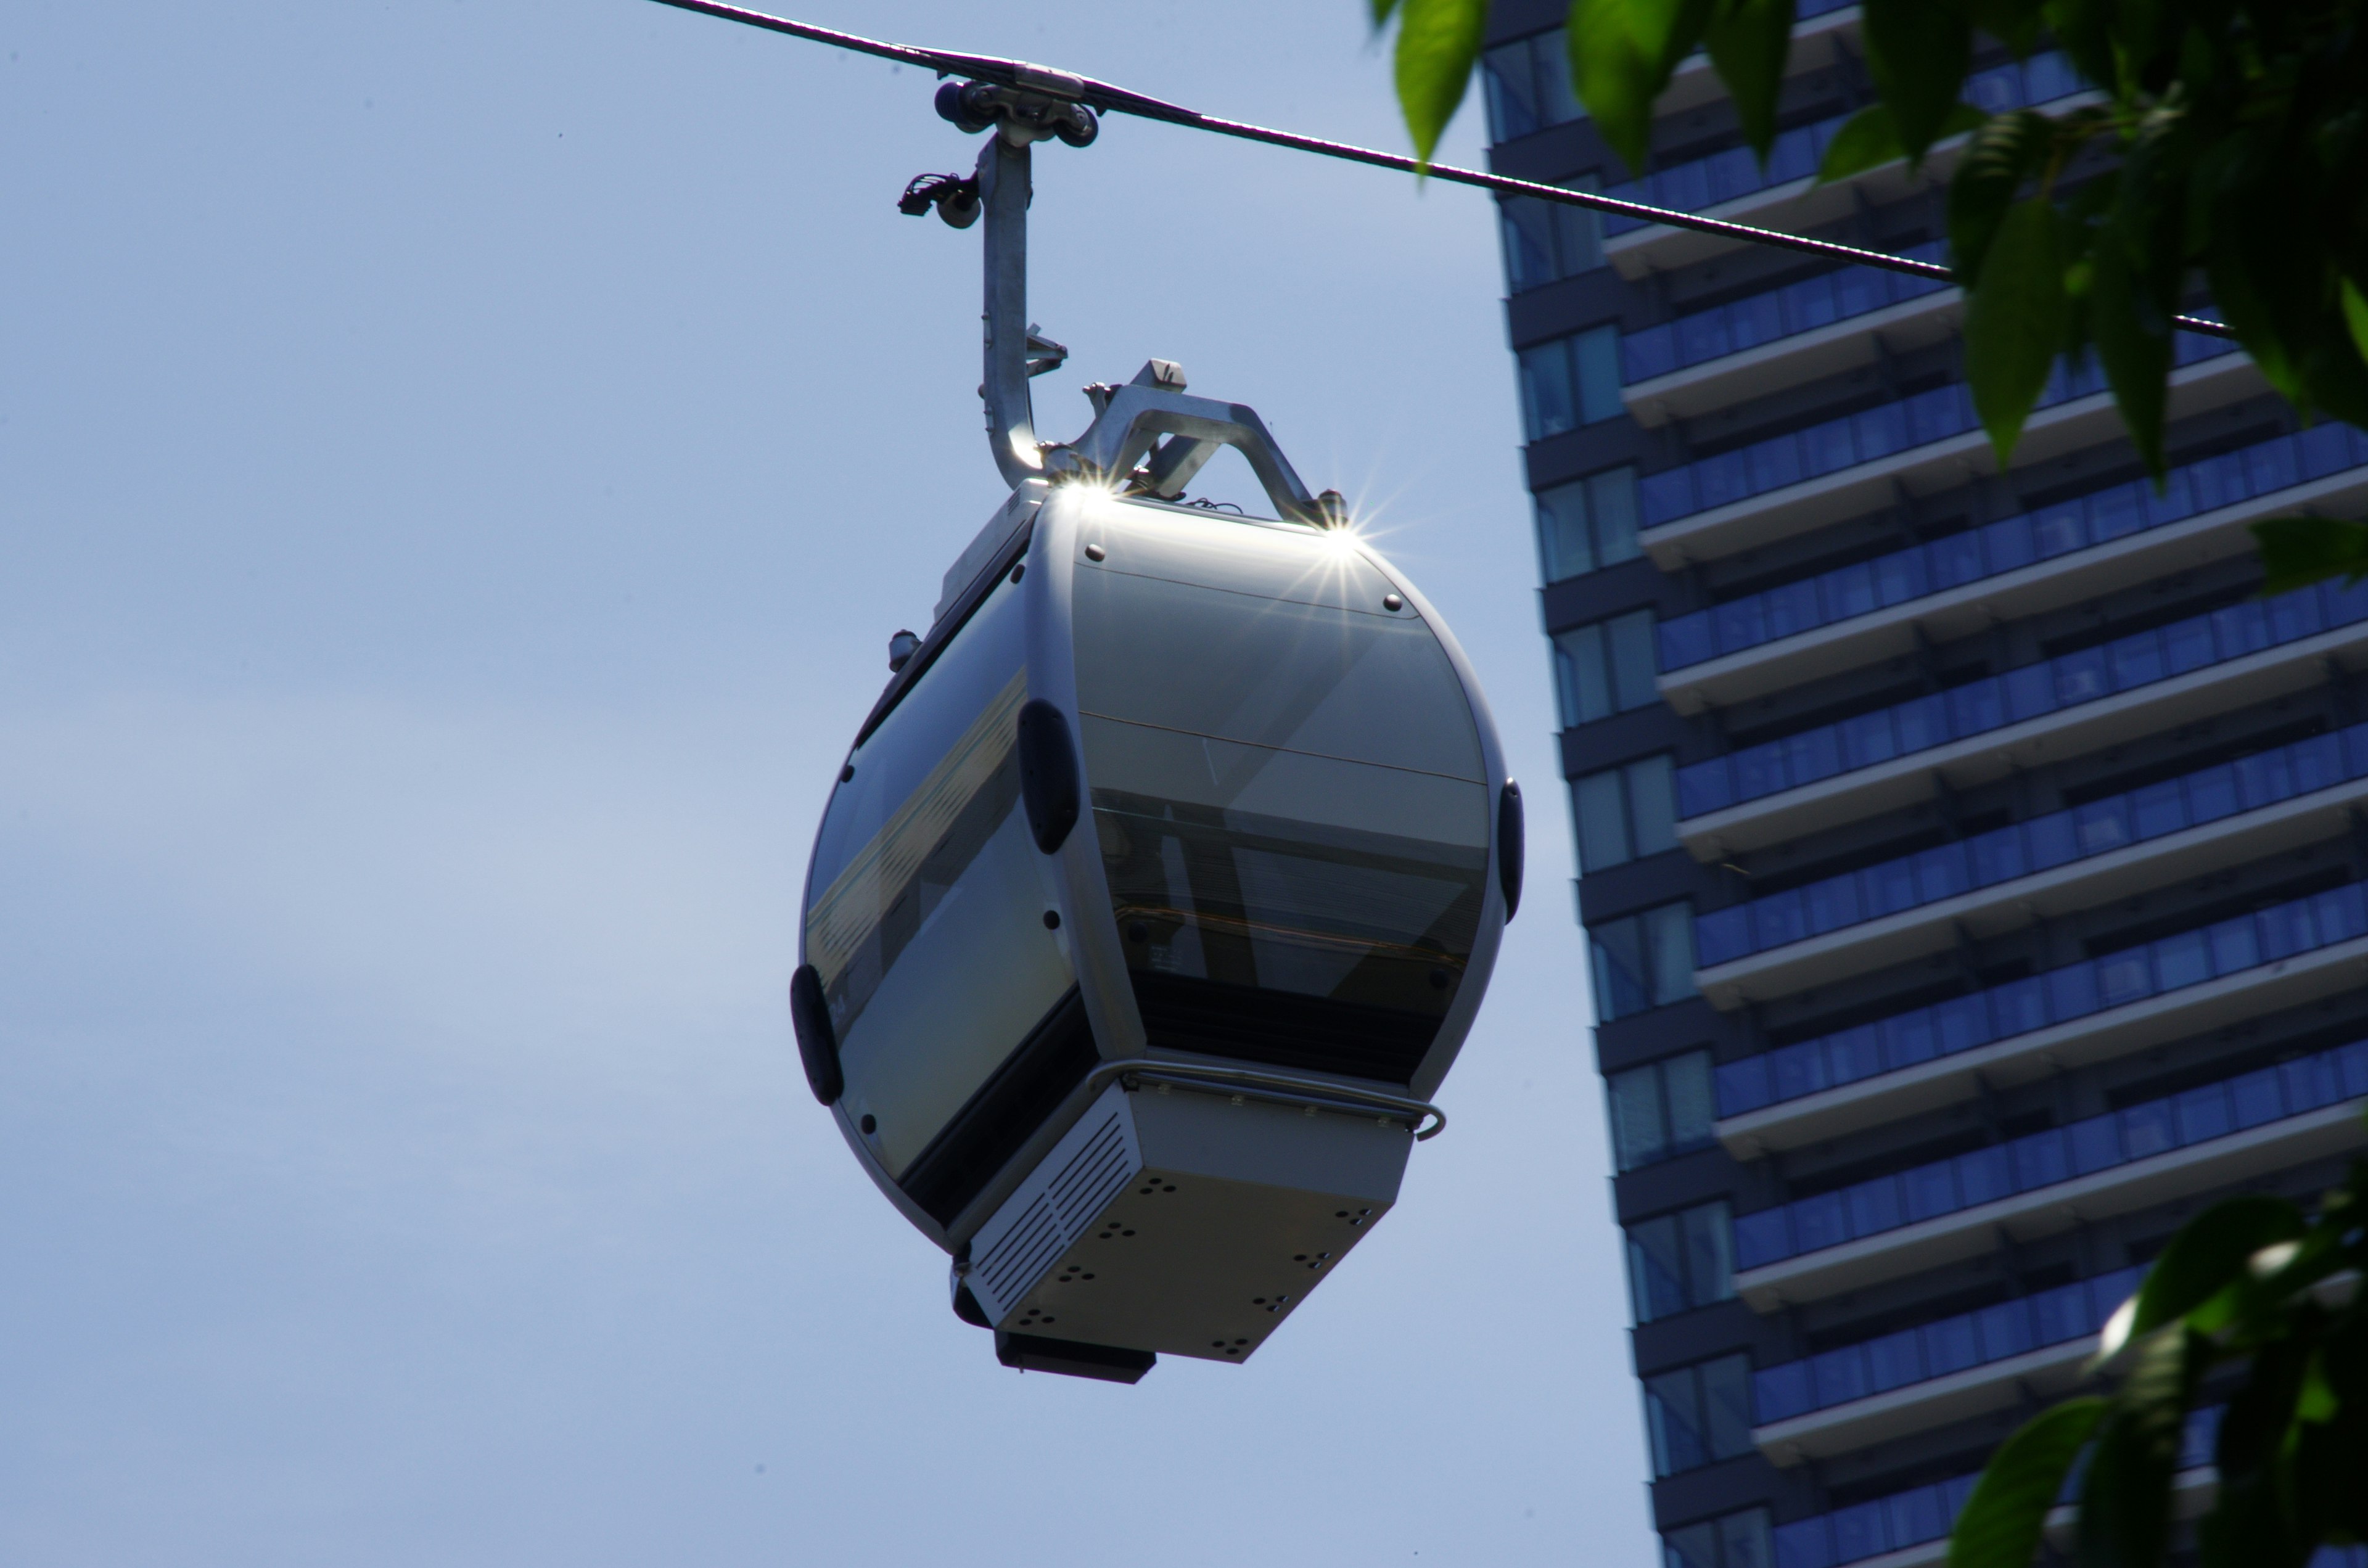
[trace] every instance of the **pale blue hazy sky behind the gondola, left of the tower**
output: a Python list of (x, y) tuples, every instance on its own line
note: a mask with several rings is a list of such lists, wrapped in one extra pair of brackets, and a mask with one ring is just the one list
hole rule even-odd
[[(1350, 0), (803, 14), (1402, 144)], [(1040, 426), (1146, 355), (1255, 405), (1537, 782), (1404, 1203), (1130, 1390), (945, 1310), (784, 1007), (888, 632), (999, 500), (978, 232), (893, 206), (976, 152), (933, 83), (637, 0), (0, 52), (0, 1561), (1648, 1561), (1478, 194), (1037, 161)]]

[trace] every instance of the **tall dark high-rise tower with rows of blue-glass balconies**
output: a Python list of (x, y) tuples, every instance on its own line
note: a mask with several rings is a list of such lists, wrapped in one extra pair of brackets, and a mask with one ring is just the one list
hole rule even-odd
[[(1643, 178), (1561, 9), (1494, 9), (1499, 173), (1942, 256), (1949, 147), (1814, 185), (1857, 7), (1802, 0), (1767, 166), (1695, 59)], [(2356, 514), (2368, 441), (2190, 336), (2164, 493), (2079, 365), (2001, 474), (1954, 289), (1501, 223), (1667, 1566), (1939, 1561), (2188, 1215), (2361, 1142), (2368, 592), (2259, 599), (2245, 523)]]

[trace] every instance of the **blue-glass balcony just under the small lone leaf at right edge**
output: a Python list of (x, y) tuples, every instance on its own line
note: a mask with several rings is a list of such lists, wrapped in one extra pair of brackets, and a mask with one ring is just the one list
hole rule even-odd
[(2368, 656), (2368, 587), (2332, 583), (2020, 666), (1677, 770), (1677, 836), (1717, 862), (2271, 701)]

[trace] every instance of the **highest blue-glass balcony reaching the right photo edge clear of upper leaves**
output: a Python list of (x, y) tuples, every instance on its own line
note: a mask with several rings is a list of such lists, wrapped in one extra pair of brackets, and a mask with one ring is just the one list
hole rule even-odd
[(1679, 713), (1724, 708), (2240, 554), (2242, 523), (2363, 497), (2368, 433), (2276, 436), (2174, 467), (2162, 495), (2134, 478), (1662, 621), (1658, 687)]

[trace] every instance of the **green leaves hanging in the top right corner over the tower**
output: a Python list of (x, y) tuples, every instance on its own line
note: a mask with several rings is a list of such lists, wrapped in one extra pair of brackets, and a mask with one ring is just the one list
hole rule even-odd
[[(1428, 159), (1487, 0), (1369, 5), (1373, 26), (1397, 19), (1397, 97)], [(1977, 33), (2018, 57), (2046, 40), (2096, 90), (2055, 114), (1982, 114), (1961, 102)], [(1767, 159), (1793, 0), (1570, 0), (1568, 40), (1579, 102), (1632, 171), (1695, 50)], [(2198, 279), (2304, 419), (2368, 426), (2368, 0), (1864, 0), (1861, 43), (1875, 102), (1819, 178), (1954, 159), (1965, 381), (2001, 464), (2055, 358), (2093, 353), (2160, 481), (2171, 317)], [(2254, 533), (2264, 592), (2368, 576), (2368, 526)]]

